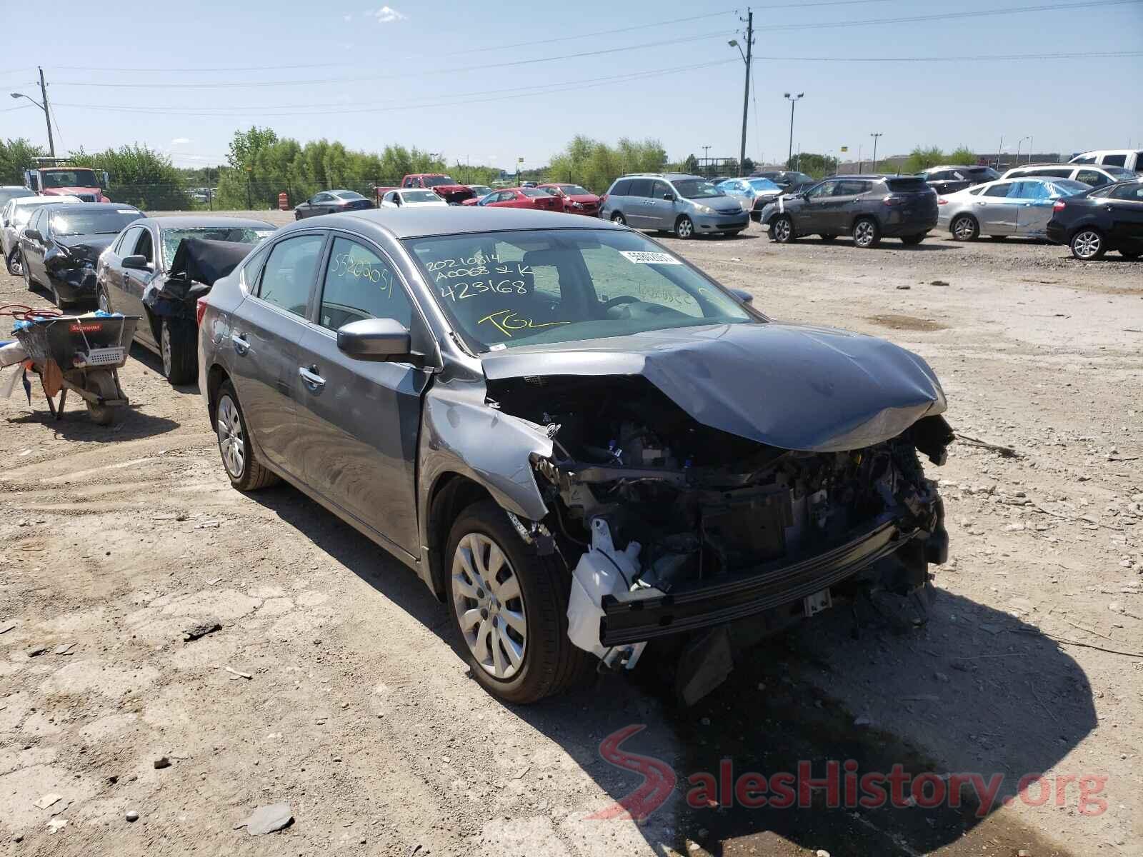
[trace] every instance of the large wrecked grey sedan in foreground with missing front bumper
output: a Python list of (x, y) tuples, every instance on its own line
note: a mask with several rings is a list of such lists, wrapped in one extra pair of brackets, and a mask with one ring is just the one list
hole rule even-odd
[(693, 700), (730, 668), (732, 620), (745, 639), (877, 588), (924, 598), (948, 553), (925, 361), (773, 322), (623, 226), (330, 215), (199, 306), (231, 483), (283, 478), (411, 568), (505, 700), (666, 635), (695, 652)]

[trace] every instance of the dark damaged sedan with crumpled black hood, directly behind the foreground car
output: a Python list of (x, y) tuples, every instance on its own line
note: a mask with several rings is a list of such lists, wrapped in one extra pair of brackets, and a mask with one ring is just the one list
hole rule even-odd
[[(265, 221), (203, 215), (149, 217), (133, 223), (99, 259), (99, 309), (141, 317), (135, 341), (162, 358), (167, 381), (185, 384), (194, 378), (198, 366), (194, 299), (205, 295), (217, 277), (230, 273), (274, 229)], [(222, 253), (209, 254), (187, 271), (185, 264), (176, 266), (175, 262), (179, 247), (193, 240), (225, 245)], [(225, 246), (237, 253), (225, 253)], [(194, 283), (202, 288), (192, 290)]]

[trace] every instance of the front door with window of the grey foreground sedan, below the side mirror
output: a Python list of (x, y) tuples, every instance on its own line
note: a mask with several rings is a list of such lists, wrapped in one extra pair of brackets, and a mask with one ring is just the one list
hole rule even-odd
[(351, 321), (397, 319), (411, 327), (413, 303), (379, 249), (336, 233), (318, 288), (318, 311), (294, 368), (297, 435), (309, 450), (305, 481), (417, 555), (415, 462), (430, 374), (337, 347), (337, 328)]

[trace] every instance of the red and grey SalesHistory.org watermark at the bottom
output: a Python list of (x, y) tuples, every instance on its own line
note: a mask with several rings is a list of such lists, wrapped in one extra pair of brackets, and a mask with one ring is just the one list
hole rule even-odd
[[(644, 728), (642, 723), (623, 727), (600, 743), (599, 754), (605, 761), (639, 774), (644, 780), (633, 792), (590, 818), (642, 820), (662, 807), (678, 785), (674, 769), (663, 760), (622, 748), (623, 742)], [(1018, 778), (1015, 794), (1000, 798), (1007, 779), (1004, 774), (925, 771), (913, 775), (900, 763), (888, 772), (862, 772), (853, 759), (830, 760), (816, 766), (804, 760), (796, 768), (768, 775), (759, 771), (736, 774), (734, 760), (722, 759), (717, 771), (698, 771), (687, 777), (686, 802), (692, 809), (733, 806), (809, 809), (818, 792), (825, 795), (828, 809), (933, 809), (940, 806), (957, 809), (967, 794), (976, 804), (977, 818), (991, 812), (998, 800), (1005, 806), (1017, 800), (1030, 807), (1074, 804), (1085, 816), (1098, 816), (1108, 809), (1108, 802), (1100, 796), (1108, 778), (1094, 774), (1025, 774)]]

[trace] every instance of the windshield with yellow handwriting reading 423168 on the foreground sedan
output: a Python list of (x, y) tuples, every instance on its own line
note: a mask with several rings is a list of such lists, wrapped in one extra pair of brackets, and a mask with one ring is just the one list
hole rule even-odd
[(477, 352), (757, 321), (636, 232), (521, 230), (406, 241)]

